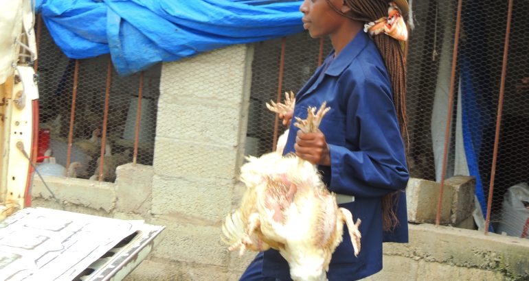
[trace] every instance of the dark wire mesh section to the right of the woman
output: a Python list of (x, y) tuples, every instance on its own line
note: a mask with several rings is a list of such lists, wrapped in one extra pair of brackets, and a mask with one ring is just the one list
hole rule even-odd
[[(407, 60), (407, 109), (410, 172), (416, 178), (439, 181), (442, 176), (440, 159), (444, 151), (440, 147), (444, 143), (449, 106), (447, 83), (451, 75), (449, 66), (457, 4), (458, 1), (414, 1), (415, 29)], [(490, 8), (495, 12), (485, 12)], [(465, 173), (476, 176), (477, 198), (484, 214), (488, 197), (492, 196), (492, 230), (513, 236), (523, 236), (529, 219), (529, 191), (526, 195), (517, 193), (517, 202), (509, 199), (509, 188), (528, 182), (529, 175), (529, 102), (526, 95), (529, 67), (524, 51), (529, 36), (523, 29), (523, 11), (527, 8), (527, 1), (514, 1), (497, 163), (493, 194), (489, 195), (508, 1), (462, 1), (458, 70), (445, 175), (445, 178)], [(462, 136), (458, 136), (458, 122)]]

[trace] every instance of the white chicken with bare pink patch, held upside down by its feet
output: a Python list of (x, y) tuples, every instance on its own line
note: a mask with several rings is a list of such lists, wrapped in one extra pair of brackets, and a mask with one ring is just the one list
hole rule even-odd
[[(328, 111), (308, 108), (306, 120), (295, 125), (315, 132)], [(326, 280), (330, 258), (342, 241), (346, 223), (354, 254), (360, 251), (360, 220), (339, 208), (315, 165), (293, 154), (275, 152), (249, 157), (240, 180), (247, 189), (240, 208), (228, 215), (223, 233), (229, 249), (262, 252), (276, 249), (289, 263), (293, 280)]]

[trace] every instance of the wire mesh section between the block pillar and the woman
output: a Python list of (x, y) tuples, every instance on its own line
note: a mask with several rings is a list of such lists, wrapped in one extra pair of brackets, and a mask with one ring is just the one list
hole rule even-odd
[[(318, 66), (319, 45), (320, 41), (311, 38), (307, 32), (285, 39), (281, 100), (285, 92), (300, 90), (314, 73)], [(246, 152), (261, 155), (274, 149), (275, 114), (264, 104), (277, 100), (282, 39), (258, 42), (254, 48)], [(324, 57), (330, 49), (330, 40), (326, 39)], [(280, 123), (278, 134), (284, 130), (286, 127)]]

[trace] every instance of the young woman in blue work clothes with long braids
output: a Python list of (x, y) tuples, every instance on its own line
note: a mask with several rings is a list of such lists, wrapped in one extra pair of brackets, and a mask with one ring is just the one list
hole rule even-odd
[[(306, 118), (306, 108), (323, 101), (331, 110), (317, 133), (290, 125), (284, 154), (318, 164), (339, 206), (361, 219), (359, 256), (344, 230), (327, 273), (330, 281), (357, 280), (382, 269), (383, 242), (408, 239), (405, 62), (399, 42), (407, 36), (401, 16), (407, 2), (305, 0), (300, 11), (304, 28), (313, 38), (329, 36), (333, 51), (297, 93), (284, 123), (292, 115)], [(288, 264), (275, 250), (258, 254), (240, 278), (290, 279)]]

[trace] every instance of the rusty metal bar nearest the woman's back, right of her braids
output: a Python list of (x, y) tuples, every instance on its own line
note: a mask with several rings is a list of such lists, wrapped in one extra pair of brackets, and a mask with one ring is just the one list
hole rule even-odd
[(450, 136), (450, 128), (452, 123), (452, 107), (453, 107), (453, 92), (455, 88), (455, 69), (458, 64), (458, 48), (459, 48), (459, 32), (461, 27), (461, 10), (462, 10), (462, 0), (458, 1), (458, 15), (457, 20), (455, 21), (455, 35), (453, 39), (453, 54), (452, 54), (452, 72), (450, 77), (450, 97), (448, 100), (447, 108), (447, 129), (444, 131), (444, 154), (442, 156), (442, 172), (441, 172), (441, 182), (439, 186), (439, 200), (437, 202), (437, 215), (436, 215), (436, 225), (439, 225), (441, 220), (441, 206), (442, 206), (442, 193), (444, 191), (444, 177), (447, 175), (447, 158), (448, 158), (448, 144)]

